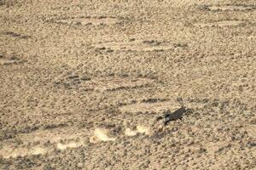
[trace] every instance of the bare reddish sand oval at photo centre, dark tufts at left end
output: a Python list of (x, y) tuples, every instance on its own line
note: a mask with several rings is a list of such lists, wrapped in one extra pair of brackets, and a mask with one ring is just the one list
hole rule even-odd
[(93, 78), (83, 80), (79, 76), (76, 78), (61, 78), (60, 81), (55, 82), (55, 86), (65, 88), (83, 88), (86, 90), (95, 91), (115, 91), (119, 89), (143, 88), (148, 87), (154, 83), (154, 80), (149, 78)]

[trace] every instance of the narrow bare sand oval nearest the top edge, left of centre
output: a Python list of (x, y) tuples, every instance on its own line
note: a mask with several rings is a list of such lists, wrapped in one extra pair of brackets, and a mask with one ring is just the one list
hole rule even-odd
[(68, 26), (100, 26), (100, 25), (113, 25), (119, 22), (115, 17), (73, 17), (68, 19), (55, 20), (57, 24), (65, 24)]

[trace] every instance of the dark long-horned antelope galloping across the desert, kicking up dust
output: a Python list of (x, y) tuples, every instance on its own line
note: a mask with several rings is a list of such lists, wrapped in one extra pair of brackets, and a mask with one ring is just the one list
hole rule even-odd
[(182, 120), (184, 113), (191, 112), (190, 109), (186, 109), (186, 107), (183, 105), (183, 99), (178, 98), (177, 102), (181, 105), (181, 108), (177, 109), (173, 113), (168, 111), (164, 116), (157, 117), (156, 121), (164, 119), (164, 125), (166, 126), (169, 122), (177, 121), (178, 119)]

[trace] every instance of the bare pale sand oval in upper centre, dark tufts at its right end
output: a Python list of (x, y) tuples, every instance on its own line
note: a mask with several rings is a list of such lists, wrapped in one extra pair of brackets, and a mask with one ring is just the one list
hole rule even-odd
[(156, 40), (139, 41), (135, 39), (126, 42), (102, 42), (92, 45), (93, 48), (107, 51), (164, 51), (174, 48), (184, 48), (186, 46), (187, 44), (174, 44)]

